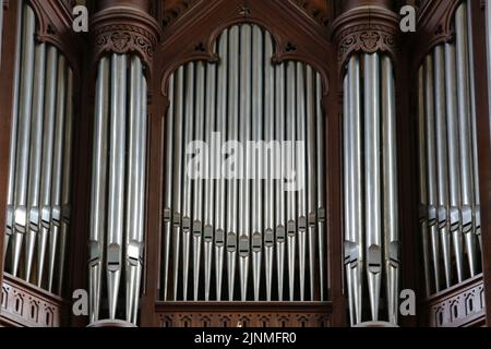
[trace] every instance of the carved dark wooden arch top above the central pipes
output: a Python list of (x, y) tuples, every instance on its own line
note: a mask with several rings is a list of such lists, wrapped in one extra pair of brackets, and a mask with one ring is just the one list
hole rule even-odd
[[(323, 77), (324, 95), (330, 91), (328, 72), (326, 65), (332, 64), (333, 47), (324, 37), (325, 32), (320, 26), (313, 27), (311, 21), (306, 17), (296, 4), (284, 3), (280, 0), (254, 1), (249, 0), (217, 0), (213, 3), (200, 2), (190, 13), (188, 21), (202, 26), (200, 32), (190, 33), (191, 29), (180, 27), (180, 33), (176, 35), (176, 26), (171, 25), (164, 34), (163, 43), (158, 53), (159, 62), (157, 67), (164, 67), (161, 75), (161, 93), (167, 96), (167, 81), (179, 65), (195, 60), (206, 60), (216, 62), (219, 60), (214, 50), (215, 43), (223, 31), (239, 23), (254, 23), (272, 33), (275, 41), (275, 52), (273, 61), (280, 63), (284, 60), (299, 60), (311, 64)], [(275, 11), (276, 17), (268, 17), (266, 13)], [(298, 31), (288, 31), (282, 27), (282, 21), (290, 19)], [(194, 37), (194, 41), (184, 40), (184, 37)], [(306, 37), (311, 40), (307, 43)], [(181, 40), (178, 40), (182, 38)], [(171, 47), (171, 56), (167, 55)], [(334, 68), (334, 67), (333, 67)]]

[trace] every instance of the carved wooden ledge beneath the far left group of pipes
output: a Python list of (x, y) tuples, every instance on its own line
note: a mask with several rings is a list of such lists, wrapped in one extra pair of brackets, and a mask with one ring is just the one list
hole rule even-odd
[(0, 324), (60, 327), (64, 301), (8, 274), (3, 275)]

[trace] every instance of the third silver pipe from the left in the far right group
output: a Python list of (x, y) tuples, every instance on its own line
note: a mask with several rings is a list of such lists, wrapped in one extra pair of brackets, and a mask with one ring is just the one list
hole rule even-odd
[(445, 285), (452, 284), (451, 236), (448, 230), (448, 152), (446, 137), (446, 106), (445, 106), (445, 61), (443, 47), (434, 48), (434, 100), (435, 100), (435, 132), (436, 132), (436, 178), (438, 178), (438, 226), (443, 254), (443, 270)]

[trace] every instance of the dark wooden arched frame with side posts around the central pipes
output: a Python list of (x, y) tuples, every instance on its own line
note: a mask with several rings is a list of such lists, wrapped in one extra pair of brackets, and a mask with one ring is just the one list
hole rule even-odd
[[(282, 0), (213, 0), (203, 1), (166, 28), (156, 48), (153, 62), (153, 97), (149, 108), (149, 158), (146, 216), (145, 292), (142, 300), (141, 325), (158, 326), (165, 315), (158, 302), (160, 285), (160, 236), (163, 227), (163, 179), (165, 154), (165, 118), (169, 106), (168, 79), (179, 65), (190, 61), (216, 61), (213, 51), (218, 35), (233, 24), (254, 23), (268, 31), (276, 41), (274, 62), (301, 61), (319, 71), (323, 80), (323, 108), (326, 113), (326, 282), (331, 325), (345, 325), (343, 296), (343, 232), (342, 232), (342, 158), (340, 99), (337, 81), (336, 46), (328, 40), (326, 28), (307, 16), (290, 2)], [(191, 38), (191, 39), (190, 39)], [(328, 116), (328, 117), (327, 117)], [(208, 304), (209, 305), (209, 304)], [(214, 304), (221, 306), (219, 304)], [(172, 305), (175, 311), (179, 306)], [(171, 308), (166, 311), (172, 312)], [(199, 306), (199, 305), (197, 305)], [(287, 305), (286, 305), (287, 306)], [(230, 310), (224, 309), (224, 312)], [(255, 306), (260, 311), (260, 306)], [(288, 308), (288, 306), (287, 306)], [(298, 311), (298, 310), (297, 310)], [(308, 312), (309, 308), (304, 308)]]

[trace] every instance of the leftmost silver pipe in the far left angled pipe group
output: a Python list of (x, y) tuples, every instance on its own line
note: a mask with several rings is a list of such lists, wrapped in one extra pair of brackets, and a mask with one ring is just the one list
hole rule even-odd
[(12, 109), (12, 133), (10, 137), (9, 152), (9, 176), (7, 185), (7, 229), (3, 244), (3, 260), (7, 257), (7, 251), (10, 243), (10, 237), (14, 230), (14, 201), (15, 201), (15, 160), (17, 148), (17, 123), (19, 123), (19, 98), (21, 80), (21, 57), (22, 57), (22, 28), (23, 28), (23, 5), (17, 7), (17, 28), (15, 38), (15, 73), (13, 81), (13, 109)]

